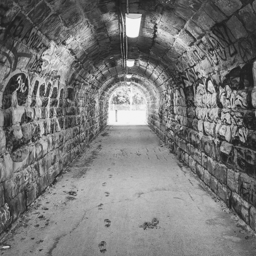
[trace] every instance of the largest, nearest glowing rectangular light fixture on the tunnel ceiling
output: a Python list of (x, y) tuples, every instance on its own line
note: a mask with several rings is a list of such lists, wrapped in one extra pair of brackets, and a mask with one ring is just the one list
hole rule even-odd
[(135, 38), (139, 36), (142, 14), (125, 14), (126, 36)]

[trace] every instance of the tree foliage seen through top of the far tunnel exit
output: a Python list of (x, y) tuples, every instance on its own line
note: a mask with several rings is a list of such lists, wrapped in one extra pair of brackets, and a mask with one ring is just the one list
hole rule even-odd
[[(122, 87), (116, 90), (113, 94), (110, 104), (130, 104), (131, 87)], [(132, 88), (132, 104), (145, 104), (143, 94), (136, 88)]]

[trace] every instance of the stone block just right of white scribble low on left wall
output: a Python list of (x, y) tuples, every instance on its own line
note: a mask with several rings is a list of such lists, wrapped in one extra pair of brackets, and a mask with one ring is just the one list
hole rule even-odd
[(26, 197), (25, 192), (19, 193), (15, 196), (9, 203), (10, 215), (12, 216), (12, 221), (16, 221), (19, 215), (26, 210)]

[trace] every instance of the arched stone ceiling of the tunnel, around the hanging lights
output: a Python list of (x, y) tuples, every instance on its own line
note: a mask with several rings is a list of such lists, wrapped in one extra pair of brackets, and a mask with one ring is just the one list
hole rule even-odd
[[(129, 12), (141, 13), (138, 38), (128, 38), (128, 69), (135, 84), (153, 95), (177, 74), (177, 61), (197, 39), (227, 19), (247, 0), (129, 0)], [(108, 94), (124, 84), (117, 5), (119, 0), (16, 0), (43, 35), (59, 46), (94, 91)], [(121, 0), (125, 15), (125, 1)], [(12, 9), (15, 10), (15, 9)], [(190, 60), (196, 62), (196, 60)]]

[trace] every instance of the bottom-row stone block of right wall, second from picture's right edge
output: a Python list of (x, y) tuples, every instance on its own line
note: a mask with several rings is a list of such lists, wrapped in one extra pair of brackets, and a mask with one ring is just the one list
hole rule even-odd
[(231, 195), (230, 204), (232, 210), (235, 211), (240, 218), (249, 225), (250, 205), (244, 199), (242, 199), (241, 196), (234, 192)]

